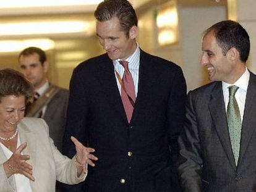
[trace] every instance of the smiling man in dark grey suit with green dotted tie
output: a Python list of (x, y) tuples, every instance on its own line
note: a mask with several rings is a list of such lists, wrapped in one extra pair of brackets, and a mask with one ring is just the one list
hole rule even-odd
[(179, 178), (183, 191), (256, 191), (256, 76), (245, 62), (247, 31), (237, 22), (208, 28), (201, 64), (208, 85), (187, 96)]

